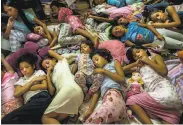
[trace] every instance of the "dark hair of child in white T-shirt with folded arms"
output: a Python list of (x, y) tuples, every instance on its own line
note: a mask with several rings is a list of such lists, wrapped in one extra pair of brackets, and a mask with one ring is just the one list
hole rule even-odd
[(35, 65), (38, 57), (32, 53), (25, 53), (17, 59), (16, 67), (19, 68), (21, 62), (27, 62), (30, 65)]

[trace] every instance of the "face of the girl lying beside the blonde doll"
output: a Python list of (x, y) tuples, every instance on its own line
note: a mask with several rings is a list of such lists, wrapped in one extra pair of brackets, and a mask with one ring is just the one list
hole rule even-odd
[(143, 56), (147, 56), (147, 53), (143, 49), (133, 49), (133, 58), (135, 60), (141, 59)]

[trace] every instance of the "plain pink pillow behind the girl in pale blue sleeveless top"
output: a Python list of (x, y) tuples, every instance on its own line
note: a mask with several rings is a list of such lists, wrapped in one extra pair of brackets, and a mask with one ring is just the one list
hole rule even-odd
[(119, 40), (108, 40), (99, 44), (99, 49), (107, 49), (111, 52), (114, 60), (118, 60), (121, 64), (126, 60), (125, 45)]

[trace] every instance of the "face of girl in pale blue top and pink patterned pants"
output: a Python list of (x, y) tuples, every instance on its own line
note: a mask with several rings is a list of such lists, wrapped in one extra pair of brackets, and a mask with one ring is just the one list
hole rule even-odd
[(92, 57), (92, 61), (97, 68), (103, 68), (106, 64), (105, 58), (96, 54)]

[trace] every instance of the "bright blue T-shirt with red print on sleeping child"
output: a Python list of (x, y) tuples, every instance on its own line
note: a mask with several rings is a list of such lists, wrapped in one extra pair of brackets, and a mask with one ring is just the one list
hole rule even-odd
[(135, 44), (152, 43), (154, 34), (149, 29), (139, 26), (137, 22), (132, 22), (128, 25), (128, 32), (121, 38), (122, 42), (127, 40)]

